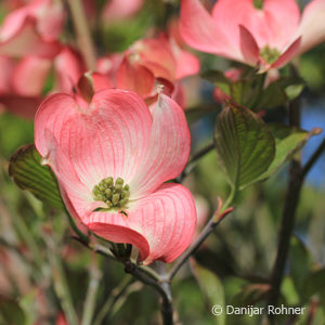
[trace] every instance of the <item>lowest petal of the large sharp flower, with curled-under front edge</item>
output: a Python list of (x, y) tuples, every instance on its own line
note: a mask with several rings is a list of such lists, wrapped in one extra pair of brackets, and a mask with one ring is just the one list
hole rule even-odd
[(162, 184), (127, 213), (93, 212), (87, 224), (108, 240), (136, 246), (145, 264), (172, 262), (192, 240), (196, 210), (192, 194), (183, 185)]

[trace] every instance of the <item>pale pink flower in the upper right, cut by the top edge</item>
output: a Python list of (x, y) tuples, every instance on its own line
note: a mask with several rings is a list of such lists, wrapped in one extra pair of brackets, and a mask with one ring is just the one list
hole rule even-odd
[(197, 50), (266, 70), (324, 41), (324, 16), (325, 0), (301, 16), (295, 0), (218, 0), (211, 14), (199, 0), (182, 0), (181, 34)]

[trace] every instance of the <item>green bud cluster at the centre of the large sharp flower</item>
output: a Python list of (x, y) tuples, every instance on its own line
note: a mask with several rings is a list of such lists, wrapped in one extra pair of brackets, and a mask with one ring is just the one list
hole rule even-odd
[(121, 178), (117, 178), (115, 183), (112, 177), (103, 179), (92, 190), (95, 200), (102, 200), (107, 208), (123, 208), (130, 197), (130, 186), (125, 184)]

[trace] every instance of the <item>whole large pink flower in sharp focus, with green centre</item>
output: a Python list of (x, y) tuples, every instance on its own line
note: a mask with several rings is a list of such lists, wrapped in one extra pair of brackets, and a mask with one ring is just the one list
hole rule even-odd
[(134, 245), (145, 264), (171, 262), (191, 243), (193, 196), (165, 183), (184, 168), (190, 142), (182, 108), (164, 94), (152, 117), (132, 91), (95, 92), (83, 108), (60, 93), (35, 119), (36, 147), (72, 216), (99, 236)]

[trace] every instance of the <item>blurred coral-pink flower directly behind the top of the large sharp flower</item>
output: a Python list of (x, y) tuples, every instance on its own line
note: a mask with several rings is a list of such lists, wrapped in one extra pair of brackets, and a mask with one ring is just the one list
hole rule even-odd
[(178, 90), (176, 96), (182, 99), (177, 82), (198, 70), (199, 62), (192, 53), (160, 34), (157, 38), (140, 40), (126, 51), (117, 69), (116, 84), (117, 88), (135, 91), (143, 99), (155, 100), (156, 86), (161, 83), (166, 93), (173, 94)]

